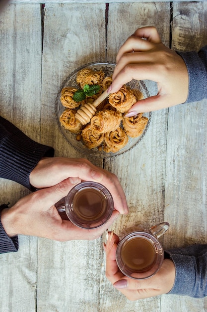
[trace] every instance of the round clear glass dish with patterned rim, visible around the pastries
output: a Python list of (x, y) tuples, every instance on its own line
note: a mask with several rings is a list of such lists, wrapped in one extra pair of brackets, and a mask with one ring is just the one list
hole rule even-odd
[[(98, 148), (94, 148), (94, 149), (88, 149), (86, 148), (82, 141), (77, 141), (76, 140), (76, 134), (71, 133), (69, 130), (65, 129), (60, 122), (60, 116), (62, 115), (62, 113), (65, 111), (66, 107), (64, 107), (60, 101), (60, 97), (61, 97), (61, 91), (63, 88), (66, 87), (74, 87), (76, 89), (79, 89), (79, 86), (76, 82), (76, 76), (77, 73), (84, 69), (84, 68), (91, 68), (92, 70), (102, 70), (105, 73), (105, 77), (107, 76), (111, 76), (114, 72), (115, 69), (115, 63), (110, 63), (110, 62), (95, 62), (95, 63), (89, 63), (86, 65), (83, 65), (79, 68), (77, 68), (75, 71), (73, 71), (68, 77), (67, 79), (64, 81), (64, 83), (61, 86), (61, 89), (57, 95), (57, 99), (56, 99), (56, 118), (57, 118), (57, 122), (60, 128), (61, 133), (63, 134), (63, 136), (65, 137), (65, 139), (67, 140), (67, 142), (77, 151), (84, 153), (88, 156), (94, 156), (94, 157), (112, 157), (112, 156), (118, 156), (121, 155), (123, 153), (126, 153), (127, 151), (131, 150), (132, 148), (134, 148), (143, 138), (143, 136), (145, 135), (149, 124), (150, 124), (150, 120), (151, 120), (151, 112), (148, 113), (143, 113), (142, 116), (147, 117), (148, 121), (147, 124), (142, 132), (142, 134), (137, 137), (137, 138), (130, 138), (129, 137), (129, 141), (127, 143), (127, 145), (122, 148), (121, 150), (119, 150), (116, 153), (106, 153), (103, 150), (99, 150)], [(138, 89), (139, 91), (141, 91), (143, 93), (143, 97), (147, 98), (149, 97), (149, 93), (148, 90), (144, 84), (144, 82), (142, 80), (132, 80), (131, 82), (129, 82), (127, 84), (131, 89)]]

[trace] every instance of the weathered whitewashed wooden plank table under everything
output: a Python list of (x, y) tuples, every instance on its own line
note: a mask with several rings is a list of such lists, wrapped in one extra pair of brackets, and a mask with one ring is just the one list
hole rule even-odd
[[(39, 2), (11, 1), (0, 14), (0, 115), (33, 140), (53, 146), (56, 156), (86, 157), (66, 142), (55, 116), (60, 86), (74, 69), (115, 61), (121, 44), (140, 26), (155, 25), (173, 49), (207, 44), (205, 1)], [(154, 83), (146, 86), (150, 95), (156, 93)], [(170, 223), (165, 249), (207, 243), (206, 120), (206, 100), (156, 111), (134, 149), (105, 159), (88, 157), (116, 173), (126, 192), (130, 213), (112, 226), (116, 233), (165, 220)], [(12, 205), (27, 193), (0, 180), (1, 203)], [(20, 236), (17, 253), (0, 255), (0, 311), (207, 311), (206, 299), (162, 295), (128, 301), (105, 277), (104, 239), (60, 243)]]

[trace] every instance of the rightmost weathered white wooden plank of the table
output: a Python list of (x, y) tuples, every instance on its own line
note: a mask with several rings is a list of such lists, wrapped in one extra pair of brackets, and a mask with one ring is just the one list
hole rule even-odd
[[(191, 51), (206, 44), (206, 16), (206, 2), (174, 3), (173, 48)], [(165, 248), (207, 242), (206, 120), (206, 100), (169, 109), (164, 215), (170, 229)], [(162, 296), (162, 311), (172, 306), (176, 312), (205, 312), (207, 299)]]

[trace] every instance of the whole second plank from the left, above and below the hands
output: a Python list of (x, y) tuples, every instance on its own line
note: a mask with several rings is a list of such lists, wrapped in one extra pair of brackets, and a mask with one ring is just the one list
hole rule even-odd
[[(41, 142), (54, 146), (57, 156), (86, 157), (71, 148), (60, 133), (55, 101), (74, 69), (97, 60), (105, 60), (105, 4), (45, 5)], [(102, 165), (102, 161), (93, 162)], [(97, 312), (102, 253), (100, 239), (40, 240), (37, 311)]]

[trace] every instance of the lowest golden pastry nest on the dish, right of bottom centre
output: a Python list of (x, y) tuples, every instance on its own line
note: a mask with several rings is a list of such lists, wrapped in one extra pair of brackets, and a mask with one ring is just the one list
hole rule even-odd
[(127, 145), (128, 140), (129, 138), (125, 131), (119, 127), (115, 131), (105, 134), (103, 150), (106, 153), (116, 153)]

